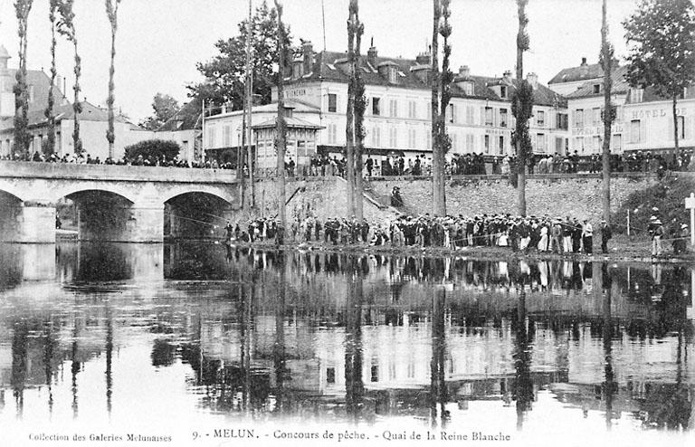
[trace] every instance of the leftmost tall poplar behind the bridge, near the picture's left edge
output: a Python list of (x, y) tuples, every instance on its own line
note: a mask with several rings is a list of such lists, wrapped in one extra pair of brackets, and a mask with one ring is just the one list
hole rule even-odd
[(29, 157), (29, 87), (26, 84), (26, 47), (27, 25), (33, 0), (15, 0), (14, 13), (17, 17), (17, 34), (19, 35), (19, 70), (14, 85), (14, 147), (23, 157)]

